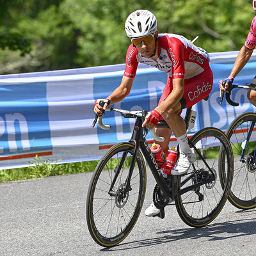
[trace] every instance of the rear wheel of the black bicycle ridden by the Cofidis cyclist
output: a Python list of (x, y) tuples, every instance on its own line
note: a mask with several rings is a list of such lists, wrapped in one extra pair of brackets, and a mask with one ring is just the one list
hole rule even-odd
[[(184, 223), (190, 227), (204, 227), (218, 216), (227, 201), (232, 184), (234, 159), (230, 143), (220, 129), (213, 127), (202, 129), (191, 138), (191, 143), (200, 150), (214, 173), (215, 179), (211, 183), (204, 184), (178, 196), (175, 205)], [(184, 184), (182, 188), (201, 181), (204, 175), (211, 173), (199, 155), (196, 152), (195, 154), (196, 161), (191, 165), (188, 173), (178, 177), (178, 189), (182, 186), (182, 181), (188, 178), (189, 175), (193, 175), (194, 178)], [(221, 168), (219, 168), (219, 157), (223, 159), (225, 166), (227, 166), (225, 174), (221, 173)], [(225, 182), (222, 179), (225, 179)]]

